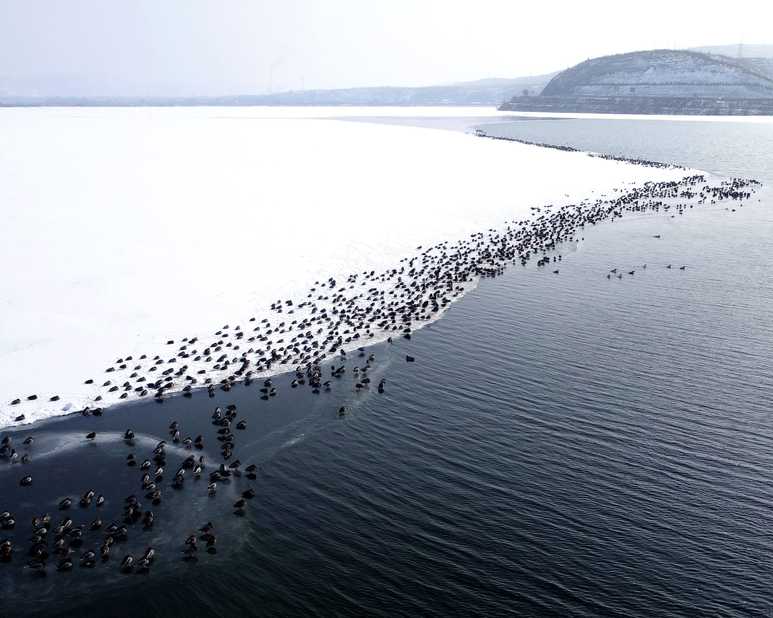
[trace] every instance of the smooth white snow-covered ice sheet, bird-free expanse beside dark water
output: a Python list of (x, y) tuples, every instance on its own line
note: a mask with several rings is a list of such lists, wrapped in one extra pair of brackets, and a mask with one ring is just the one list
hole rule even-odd
[(0, 110), (0, 426), (117, 402), (120, 392), (98, 388), (126, 379), (105, 374), (117, 358), (174, 356), (182, 338), (209, 340), (224, 324), (251, 331), (251, 317), (273, 320), (271, 303), (305, 300), (317, 280), (399, 267), (417, 246), (526, 219), (532, 206), (686, 175), (454, 131), (332, 120), (358, 114), (501, 115)]

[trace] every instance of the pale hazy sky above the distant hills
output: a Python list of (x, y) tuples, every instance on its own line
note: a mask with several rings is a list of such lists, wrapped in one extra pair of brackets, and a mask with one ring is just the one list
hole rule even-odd
[(0, 90), (239, 94), (300, 90), (301, 76), (306, 90), (516, 77), (653, 46), (773, 43), (771, 5), (0, 0)]

